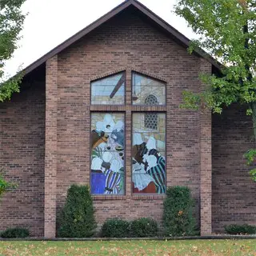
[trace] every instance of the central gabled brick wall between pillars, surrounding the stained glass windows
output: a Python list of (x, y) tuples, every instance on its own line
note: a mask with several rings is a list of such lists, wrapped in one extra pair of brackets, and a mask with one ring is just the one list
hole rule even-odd
[[(129, 16), (128, 16), (129, 15)], [(126, 107), (126, 195), (114, 200), (95, 197), (99, 223), (106, 218), (162, 218), (162, 197), (134, 197), (130, 190), (130, 70), (141, 71), (167, 82), (167, 186), (190, 186), (197, 201), (199, 218), (200, 152), (198, 113), (181, 110), (182, 91), (199, 90), (199, 58), (187, 54), (171, 38), (134, 14), (120, 14), (58, 54), (58, 171), (57, 204), (62, 206), (68, 186), (90, 182), (90, 81), (127, 70)], [(210, 66), (210, 64), (209, 64)]]

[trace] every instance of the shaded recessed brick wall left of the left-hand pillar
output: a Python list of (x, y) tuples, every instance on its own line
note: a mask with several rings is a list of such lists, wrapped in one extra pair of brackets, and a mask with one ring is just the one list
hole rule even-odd
[(31, 88), (0, 103), (0, 169), (18, 189), (0, 202), (0, 230), (22, 226), (33, 236), (43, 235), (45, 86)]

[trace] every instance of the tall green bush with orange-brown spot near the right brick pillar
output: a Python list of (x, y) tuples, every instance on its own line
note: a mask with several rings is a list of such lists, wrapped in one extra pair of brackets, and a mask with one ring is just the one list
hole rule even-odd
[(163, 225), (166, 236), (196, 234), (194, 201), (186, 186), (169, 187), (164, 200)]

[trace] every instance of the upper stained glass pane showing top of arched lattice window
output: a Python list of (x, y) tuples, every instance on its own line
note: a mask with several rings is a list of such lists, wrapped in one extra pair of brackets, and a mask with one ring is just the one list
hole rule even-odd
[(164, 82), (133, 72), (132, 88), (134, 105), (166, 104), (166, 84)]

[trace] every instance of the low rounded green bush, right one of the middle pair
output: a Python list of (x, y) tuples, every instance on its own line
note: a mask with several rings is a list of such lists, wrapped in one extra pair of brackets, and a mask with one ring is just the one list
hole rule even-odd
[(150, 238), (158, 235), (158, 222), (153, 218), (138, 218), (130, 223), (135, 238)]

